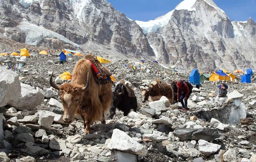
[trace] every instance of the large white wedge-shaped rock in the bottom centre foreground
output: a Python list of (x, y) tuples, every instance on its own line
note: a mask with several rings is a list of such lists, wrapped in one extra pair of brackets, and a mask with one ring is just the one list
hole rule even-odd
[(119, 129), (113, 130), (111, 141), (108, 144), (108, 149), (133, 153), (140, 156), (145, 156), (148, 152), (145, 146), (134, 141), (134, 139)]

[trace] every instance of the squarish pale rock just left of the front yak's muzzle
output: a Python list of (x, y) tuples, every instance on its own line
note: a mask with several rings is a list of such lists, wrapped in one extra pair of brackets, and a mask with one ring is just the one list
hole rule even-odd
[(47, 113), (47, 111), (39, 112), (38, 124), (44, 128), (51, 128), (51, 125), (54, 121), (54, 116), (52, 114)]

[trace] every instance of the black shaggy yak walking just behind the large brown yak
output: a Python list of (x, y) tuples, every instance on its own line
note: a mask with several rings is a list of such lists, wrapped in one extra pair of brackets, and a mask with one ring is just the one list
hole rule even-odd
[(116, 114), (116, 108), (124, 113), (124, 116), (127, 116), (128, 113), (133, 109), (137, 111), (137, 99), (134, 94), (134, 91), (125, 85), (124, 81), (120, 81), (115, 87), (113, 92), (113, 99), (110, 108), (110, 116), (108, 119), (113, 119), (113, 116)]

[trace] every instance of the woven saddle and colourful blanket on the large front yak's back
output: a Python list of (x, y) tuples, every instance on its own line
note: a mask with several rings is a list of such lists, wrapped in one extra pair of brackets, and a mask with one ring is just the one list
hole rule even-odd
[(102, 64), (97, 60), (93, 55), (87, 54), (84, 57), (87, 60), (90, 60), (92, 71), (95, 74), (96, 82), (99, 84), (106, 84), (106, 83), (112, 83), (113, 84), (113, 77), (111, 72), (108, 70), (108, 68), (102, 66)]

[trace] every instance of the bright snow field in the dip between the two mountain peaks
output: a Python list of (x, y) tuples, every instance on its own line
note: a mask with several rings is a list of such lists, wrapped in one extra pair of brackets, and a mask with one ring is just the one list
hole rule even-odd
[(167, 14), (157, 17), (155, 20), (145, 21), (136, 21), (136, 23), (143, 29), (143, 33), (147, 34), (149, 31), (157, 31), (158, 28), (166, 26), (169, 20), (172, 17), (173, 11), (168, 12)]

